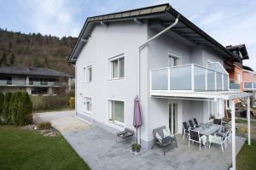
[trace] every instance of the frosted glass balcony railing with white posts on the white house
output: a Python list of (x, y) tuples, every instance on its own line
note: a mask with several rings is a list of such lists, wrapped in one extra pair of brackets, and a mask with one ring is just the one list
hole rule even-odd
[(189, 64), (150, 71), (151, 90), (224, 91), (229, 90), (229, 75)]

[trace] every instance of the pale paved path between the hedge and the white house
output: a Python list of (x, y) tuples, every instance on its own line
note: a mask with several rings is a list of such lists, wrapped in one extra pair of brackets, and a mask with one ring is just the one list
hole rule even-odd
[(36, 113), (36, 122), (51, 122), (61, 133), (77, 132), (90, 127), (87, 123), (75, 117), (75, 111), (51, 111)]

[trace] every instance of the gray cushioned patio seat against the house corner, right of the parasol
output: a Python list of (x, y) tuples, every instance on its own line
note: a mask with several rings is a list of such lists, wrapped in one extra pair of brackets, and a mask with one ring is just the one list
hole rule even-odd
[[(170, 136), (164, 136), (163, 130), (166, 129), (165, 126), (158, 127), (153, 130), (154, 135), (154, 144), (158, 144), (164, 151), (164, 156), (166, 155), (166, 148), (170, 147), (172, 143), (175, 142), (177, 147), (177, 140), (175, 137), (175, 134), (172, 134)], [(151, 150), (154, 149), (154, 144), (151, 147)]]

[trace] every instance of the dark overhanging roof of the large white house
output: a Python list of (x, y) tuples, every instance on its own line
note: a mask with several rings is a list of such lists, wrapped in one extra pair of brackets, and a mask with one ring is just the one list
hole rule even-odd
[(79, 38), (69, 55), (68, 62), (76, 62), (82, 48), (90, 37), (91, 31), (97, 24), (108, 24), (120, 20), (148, 20), (149, 23), (157, 21), (159, 25), (158, 29), (161, 31), (169, 26), (170, 23), (172, 24), (177, 17), (179, 18), (179, 22), (171, 31), (189, 40), (189, 42), (211, 48), (223, 56), (224, 59), (237, 59), (236, 55), (232, 54), (230, 50), (224, 48), (223, 45), (207, 35), (206, 32), (202, 31), (198, 26), (195, 26), (195, 24), (185, 18), (182, 14), (179, 14), (169, 3), (165, 3), (146, 8), (137, 8), (119, 13), (104, 14), (87, 18), (82, 31), (79, 34)]

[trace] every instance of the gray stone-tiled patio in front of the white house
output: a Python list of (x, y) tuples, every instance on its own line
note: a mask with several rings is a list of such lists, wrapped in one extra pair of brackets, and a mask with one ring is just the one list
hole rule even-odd
[[(94, 169), (209, 169), (227, 170), (232, 162), (232, 147), (229, 145), (224, 153), (219, 145), (212, 144), (211, 149), (198, 144), (190, 144), (177, 135), (177, 148), (166, 152), (166, 156), (157, 146), (154, 150), (142, 150), (140, 156), (130, 153), (131, 144), (115, 143), (115, 135), (101, 127), (89, 127), (80, 131), (63, 132), (63, 136), (79, 153), (84, 161)], [(245, 139), (236, 137), (236, 153), (241, 150)]]

